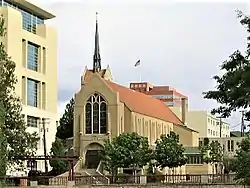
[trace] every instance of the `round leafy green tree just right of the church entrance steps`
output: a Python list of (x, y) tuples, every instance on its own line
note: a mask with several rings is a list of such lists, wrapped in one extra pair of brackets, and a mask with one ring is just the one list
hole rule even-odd
[(117, 168), (142, 168), (152, 158), (148, 138), (137, 133), (123, 133), (112, 141), (106, 141), (103, 151), (103, 161), (108, 171)]

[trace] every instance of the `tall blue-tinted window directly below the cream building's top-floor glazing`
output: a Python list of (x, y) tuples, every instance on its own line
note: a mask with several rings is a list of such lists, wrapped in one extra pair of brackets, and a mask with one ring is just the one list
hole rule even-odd
[(28, 69), (38, 71), (38, 46), (28, 43)]

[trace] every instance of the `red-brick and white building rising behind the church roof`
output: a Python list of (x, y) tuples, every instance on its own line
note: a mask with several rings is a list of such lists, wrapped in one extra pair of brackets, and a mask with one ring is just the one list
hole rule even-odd
[(160, 99), (169, 107), (181, 106), (182, 99), (188, 100), (187, 96), (178, 92), (175, 88), (170, 86), (153, 86), (147, 82), (130, 83), (130, 89), (151, 95), (156, 99)]

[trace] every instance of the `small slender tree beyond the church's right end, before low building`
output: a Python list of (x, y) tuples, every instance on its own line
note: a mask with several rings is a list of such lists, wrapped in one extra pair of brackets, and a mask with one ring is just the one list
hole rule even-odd
[[(201, 154), (203, 156), (203, 161), (207, 164), (212, 164), (213, 169), (215, 165), (215, 172), (218, 172), (218, 164), (223, 161), (223, 152), (219, 142), (212, 141), (201, 147)], [(214, 173), (214, 170), (213, 170)]]

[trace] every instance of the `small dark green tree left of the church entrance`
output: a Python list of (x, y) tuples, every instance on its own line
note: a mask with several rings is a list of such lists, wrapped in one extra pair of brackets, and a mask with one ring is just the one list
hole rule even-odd
[[(55, 142), (52, 143), (50, 154), (53, 157), (66, 155), (66, 149), (61, 139), (56, 138)], [(55, 175), (62, 174), (68, 170), (67, 161), (50, 161), (50, 166), (53, 168), (52, 171)]]

